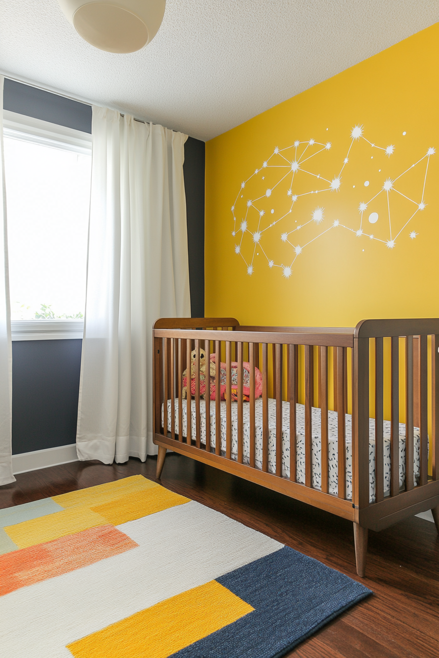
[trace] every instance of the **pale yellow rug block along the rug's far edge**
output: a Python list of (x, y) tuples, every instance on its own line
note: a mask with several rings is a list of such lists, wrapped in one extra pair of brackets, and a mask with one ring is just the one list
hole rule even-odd
[(120, 498), (128, 493), (136, 493), (160, 487), (159, 484), (147, 480), (143, 475), (133, 475), (130, 478), (98, 484), (88, 489), (80, 489), (76, 492), (61, 493), (53, 496), (52, 500), (61, 507), (94, 507)]

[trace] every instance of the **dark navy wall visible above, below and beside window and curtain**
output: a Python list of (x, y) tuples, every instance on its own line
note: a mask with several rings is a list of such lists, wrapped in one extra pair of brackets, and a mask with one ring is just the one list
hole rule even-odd
[[(91, 107), (5, 78), (5, 110), (91, 133)], [(204, 315), (205, 143), (188, 138), (184, 186), (192, 316)], [(13, 454), (76, 440), (81, 340), (13, 342)]]

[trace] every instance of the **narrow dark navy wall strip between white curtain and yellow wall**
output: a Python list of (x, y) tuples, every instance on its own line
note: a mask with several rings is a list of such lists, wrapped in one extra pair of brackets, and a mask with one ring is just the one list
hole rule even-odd
[(204, 317), (204, 170), (205, 143), (188, 137), (184, 145), (184, 189), (188, 217), (191, 315)]

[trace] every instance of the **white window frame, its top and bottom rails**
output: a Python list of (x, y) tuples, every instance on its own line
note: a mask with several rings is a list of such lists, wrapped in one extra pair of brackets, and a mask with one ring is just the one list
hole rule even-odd
[[(67, 126), (3, 110), (5, 137), (82, 155), (91, 155), (91, 134)], [(84, 320), (12, 320), (12, 340), (82, 338)]]

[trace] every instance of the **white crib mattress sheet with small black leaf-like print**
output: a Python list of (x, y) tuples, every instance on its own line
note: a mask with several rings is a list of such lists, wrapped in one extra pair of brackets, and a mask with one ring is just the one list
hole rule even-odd
[[(171, 401), (168, 400), (168, 432), (170, 432)], [(249, 463), (249, 402), (244, 402), (244, 463)], [(206, 413), (205, 402), (201, 408), (201, 443), (205, 444)], [(183, 401), (183, 436), (186, 436), (187, 402)], [(215, 402), (211, 401), (211, 446), (215, 447)], [(262, 399), (255, 401), (256, 421), (256, 467), (262, 468)], [(163, 405), (162, 405), (163, 423)], [(192, 438), (195, 439), (195, 401), (192, 400)], [(390, 488), (390, 421), (384, 420), (384, 493)], [(178, 432), (178, 399), (175, 400), (175, 431)], [(329, 492), (337, 493), (338, 453), (337, 453), (337, 413), (328, 412), (329, 434)], [(312, 409), (313, 436), (313, 488), (321, 489), (321, 410)], [(369, 495), (375, 500), (375, 420), (369, 419)], [(413, 472), (415, 481), (419, 477), (419, 428), (414, 428)], [(226, 403), (221, 402), (221, 453), (226, 450)], [(238, 403), (232, 403), (232, 459), (237, 459), (238, 451)], [(305, 482), (305, 407), (296, 405), (296, 455), (297, 482)], [(276, 400), (269, 399), (269, 472), (276, 472)], [(282, 402), (282, 475), (290, 477), (290, 404)], [(405, 424), (400, 423), (400, 486), (405, 476)], [(346, 414), (346, 497), (352, 499), (352, 417)]]

